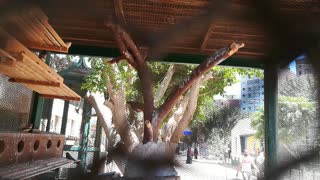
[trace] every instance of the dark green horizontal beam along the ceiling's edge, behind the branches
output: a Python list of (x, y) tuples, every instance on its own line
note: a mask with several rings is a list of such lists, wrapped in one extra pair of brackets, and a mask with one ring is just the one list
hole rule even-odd
[[(100, 56), (100, 57), (120, 56), (120, 52), (117, 48), (82, 46), (82, 45), (72, 45), (69, 48), (69, 54)], [(200, 64), (207, 57), (208, 55), (170, 53), (166, 57), (164, 57), (161, 61), (173, 62), (173, 63)], [(263, 68), (264, 67), (263, 62), (264, 61), (262, 59), (230, 57), (226, 61), (222, 62), (220, 65)]]

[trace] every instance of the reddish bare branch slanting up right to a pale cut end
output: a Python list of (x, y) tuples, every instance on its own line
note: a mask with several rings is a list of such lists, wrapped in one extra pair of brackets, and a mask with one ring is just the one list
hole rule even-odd
[[(185, 93), (203, 74), (208, 72), (213, 66), (221, 63), (240, 48), (244, 47), (244, 44), (232, 43), (230, 46), (224, 47), (203, 61), (192, 73), (187, 76), (184, 81), (176, 87), (173, 93), (167, 98), (167, 100), (159, 108), (157, 119), (155, 120), (154, 129), (159, 129), (166, 116), (170, 113), (170, 110), (178, 102), (179, 97)], [(155, 131), (155, 130), (154, 130)], [(155, 136), (154, 136), (155, 137)]]

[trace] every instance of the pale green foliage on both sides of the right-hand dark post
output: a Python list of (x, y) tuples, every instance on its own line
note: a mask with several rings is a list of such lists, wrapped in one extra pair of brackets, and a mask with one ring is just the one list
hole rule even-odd
[[(316, 119), (315, 102), (305, 97), (278, 97), (278, 136), (280, 143), (290, 144), (294, 141), (306, 139), (308, 125)], [(263, 109), (256, 112), (251, 126), (257, 129), (256, 136), (264, 136)]]

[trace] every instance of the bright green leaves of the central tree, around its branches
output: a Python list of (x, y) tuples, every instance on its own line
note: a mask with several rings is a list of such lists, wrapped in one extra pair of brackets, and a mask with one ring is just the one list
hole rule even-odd
[[(126, 61), (120, 61), (117, 64), (109, 64), (107, 63), (108, 60), (109, 59), (90, 58), (92, 67), (91, 74), (85, 78), (85, 82), (82, 84), (82, 89), (87, 89), (91, 92), (105, 92), (108, 79), (107, 77), (109, 77), (115, 91), (120, 87), (124, 87), (126, 89), (127, 101), (143, 102), (143, 96), (140, 91), (141, 83), (137, 76), (137, 72), (128, 65)], [(150, 73), (152, 74), (152, 86), (154, 93), (159, 87), (160, 82), (163, 80), (169, 66), (170, 64), (167, 63), (148, 63)], [(175, 87), (179, 85), (195, 67), (196, 65), (175, 65), (175, 73), (158, 106), (165, 101)], [(224, 88), (238, 82), (240, 76), (262, 76), (261, 70), (222, 66), (212, 68), (211, 73), (213, 75), (213, 79), (204, 82), (200, 87), (197, 110), (193, 116), (193, 119), (197, 119), (198, 121), (204, 122), (208, 119), (206, 107), (212, 105), (213, 96), (223, 94)]]

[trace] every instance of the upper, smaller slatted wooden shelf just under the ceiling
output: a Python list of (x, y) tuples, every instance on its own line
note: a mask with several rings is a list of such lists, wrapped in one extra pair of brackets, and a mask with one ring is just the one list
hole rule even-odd
[(27, 48), (67, 53), (71, 44), (65, 43), (52, 26), (48, 17), (37, 6), (20, 7), (8, 14), (1, 26)]

